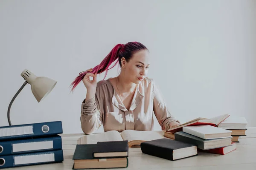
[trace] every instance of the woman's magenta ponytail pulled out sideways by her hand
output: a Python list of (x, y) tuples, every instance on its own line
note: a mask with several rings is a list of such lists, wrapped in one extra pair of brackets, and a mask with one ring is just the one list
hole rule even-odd
[[(113, 65), (111, 68), (110, 65), (119, 57), (119, 51), (120, 49), (122, 49), (124, 45), (123, 44), (117, 44), (111, 51), (110, 53), (102, 60), (102, 62), (95, 66), (93, 68), (92, 71), (90, 71), (90, 73), (92, 74), (101, 74), (102, 72), (106, 71), (105, 77), (107, 76), (108, 70), (110, 70), (111, 68), (113, 68), (114, 66), (116, 66), (116, 64), (118, 63), (119, 60), (116, 61), (115, 65)], [(79, 73), (79, 76), (76, 77), (76, 79), (71, 83), (70, 86), (73, 86), (73, 88), (71, 89), (71, 91), (73, 91), (76, 86), (79, 84), (79, 82), (81, 82), (81, 80), (84, 79), (85, 74), (87, 74), (88, 71), (83, 71), (81, 73)]]

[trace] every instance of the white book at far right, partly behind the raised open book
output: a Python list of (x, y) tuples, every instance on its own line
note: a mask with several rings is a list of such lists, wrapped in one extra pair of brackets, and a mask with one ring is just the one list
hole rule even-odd
[(229, 116), (223, 122), (221, 122), (218, 127), (223, 129), (246, 129), (247, 121), (241, 116)]

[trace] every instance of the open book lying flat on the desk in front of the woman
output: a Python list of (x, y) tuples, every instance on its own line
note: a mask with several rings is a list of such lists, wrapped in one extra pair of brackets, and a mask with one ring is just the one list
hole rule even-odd
[(163, 131), (138, 131), (138, 130), (124, 130), (119, 133), (116, 130), (107, 131), (104, 133), (95, 133), (84, 135), (78, 139), (78, 144), (96, 144), (97, 142), (108, 141), (128, 141), (128, 146), (140, 147), (141, 142), (162, 139)]

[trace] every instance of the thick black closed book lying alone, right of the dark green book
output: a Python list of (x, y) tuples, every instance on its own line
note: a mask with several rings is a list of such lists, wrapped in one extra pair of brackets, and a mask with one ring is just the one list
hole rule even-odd
[(140, 144), (141, 151), (151, 156), (175, 161), (178, 159), (197, 156), (195, 144), (175, 141), (171, 139), (157, 139)]

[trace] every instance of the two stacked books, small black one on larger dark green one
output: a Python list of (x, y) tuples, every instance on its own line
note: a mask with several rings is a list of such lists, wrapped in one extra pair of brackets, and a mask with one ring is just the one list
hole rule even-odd
[(73, 169), (128, 167), (128, 141), (77, 144)]

